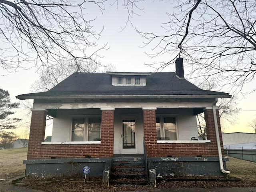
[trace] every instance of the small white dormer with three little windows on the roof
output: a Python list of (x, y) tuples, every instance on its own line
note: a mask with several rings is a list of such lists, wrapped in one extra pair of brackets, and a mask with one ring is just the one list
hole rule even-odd
[(151, 73), (107, 72), (112, 76), (112, 86), (146, 86), (146, 76)]

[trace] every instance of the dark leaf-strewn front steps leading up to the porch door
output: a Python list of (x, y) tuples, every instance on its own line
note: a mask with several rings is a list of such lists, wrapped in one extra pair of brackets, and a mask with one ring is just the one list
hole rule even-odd
[(110, 184), (147, 185), (145, 160), (142, 156), (114, 157), (112, 161)]

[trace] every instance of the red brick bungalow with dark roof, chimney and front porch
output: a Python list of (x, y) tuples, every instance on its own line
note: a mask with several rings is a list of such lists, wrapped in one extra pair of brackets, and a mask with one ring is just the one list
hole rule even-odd
[[(216, 102), (230, 94), (202, 90), (176, 72), (74, 73), (33, 99), (26, 174), (82, 172), (102, 176), (117, 155), (144, 154), (156, 175), (223, 175), (224, 157)], [(208, 140), (197, 140), (203, 113)], [(44, 141), (46, 115), (52, 138)]]

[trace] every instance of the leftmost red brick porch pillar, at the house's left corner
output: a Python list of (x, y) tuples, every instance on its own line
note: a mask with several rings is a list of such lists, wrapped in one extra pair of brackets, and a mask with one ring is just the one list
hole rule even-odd
[(46, 111), (32, 111), (27, 159), (41, 158), (41, 142), (44, 141)]

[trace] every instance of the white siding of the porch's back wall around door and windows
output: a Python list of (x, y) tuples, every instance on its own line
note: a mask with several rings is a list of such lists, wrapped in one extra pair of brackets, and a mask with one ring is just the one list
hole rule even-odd
[[(56, 118), (53, 120), (52, 142), (70, 141), (71, 118), (74, 116), (86, 116), (98, 114), (98, 110), (57, 110)], [(126, 115), (127, 114), (127, 115)], [(190, 140), (198, 136), (196, 116), (192, 109), (164, 109), (160, 115), (168, 114), (176, 118), (177, 140)], [(143, 113), (141, 108), (116, 109), (114, 114), (114, 154), (122, 153), (122, 116), (136, 117), (136, 153), (143, 154)]]

